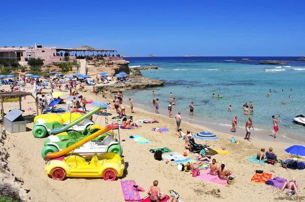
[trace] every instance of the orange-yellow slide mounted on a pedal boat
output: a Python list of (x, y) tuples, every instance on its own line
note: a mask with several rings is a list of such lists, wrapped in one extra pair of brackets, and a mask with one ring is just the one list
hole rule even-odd
[(67, 147), (66, 149), (63, 149), (62, 151), (48, 153), (44, 158), (53, 159), (53, 158), (58, 158), (60, 156), (64, 156), (64, 155), (68, 154), (69, 152), (73, 151), (74, 149), (82, 146), (83, 144), (95, 139), (96, 137), (100, 136), (101, 134), (103, 134), (109, 130), (113, 130), (113, 129), (118, 129), (118, 124), (107, 125), (106, 127), (98, 130), (97, 132), (95, 132), (93, 134), (90, 134), (90, 136), (78, 141), (77, 143), (71, 145), (70, 147)]

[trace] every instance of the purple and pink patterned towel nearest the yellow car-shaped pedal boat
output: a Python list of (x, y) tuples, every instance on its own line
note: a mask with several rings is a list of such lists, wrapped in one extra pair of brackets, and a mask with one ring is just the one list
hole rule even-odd
[(121, 187), (126, 201), (138, 201), (141, 199), (138, 190), (133, 188), (136, 185), (134, 180), (121, 180)]

